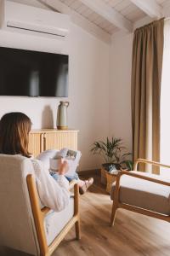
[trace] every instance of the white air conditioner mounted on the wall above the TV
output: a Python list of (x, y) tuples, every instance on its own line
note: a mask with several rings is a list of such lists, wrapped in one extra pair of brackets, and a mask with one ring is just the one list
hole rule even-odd
[(69, 32), (68, 15), (8, 0), (1, 1), (1, 28), (3, 29), (14, 28), (62, 38), (65, 38)]

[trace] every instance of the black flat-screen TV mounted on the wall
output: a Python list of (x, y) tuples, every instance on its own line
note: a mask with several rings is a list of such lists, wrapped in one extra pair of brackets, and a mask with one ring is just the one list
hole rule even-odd
[(68, 59), (0, 47), (0, 96), (68, 96)]

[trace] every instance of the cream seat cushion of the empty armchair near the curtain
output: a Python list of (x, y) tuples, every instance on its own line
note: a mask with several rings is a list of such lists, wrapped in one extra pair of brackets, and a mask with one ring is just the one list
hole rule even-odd
[[(167, 178), (148, 172), (133, 171), (133, 173), (167, 181)], [(111, 186), (111, 200), (114, 200), (115, 188), (116, 183), (113, 183)], [(170, 187), (159, 183), (122, 175), (119, 200), (127, 205), (170, 215)]]

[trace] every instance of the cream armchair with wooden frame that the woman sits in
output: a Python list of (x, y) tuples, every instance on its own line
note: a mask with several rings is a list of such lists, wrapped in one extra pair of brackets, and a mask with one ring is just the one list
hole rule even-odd
[(75, 224), (80, 239), (78, 185), (62, 212), (41, 209), (31, 160), (0, 154), (0, 246), (47, 256)]

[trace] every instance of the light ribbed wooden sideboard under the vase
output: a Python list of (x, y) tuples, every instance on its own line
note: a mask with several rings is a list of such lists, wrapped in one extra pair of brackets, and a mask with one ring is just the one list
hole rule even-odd
[(48, 149), (71, 148), (77, 150), (77, 135), (77, 130), (32, 130), (29, 135), (29, 152), (36, 157)]

